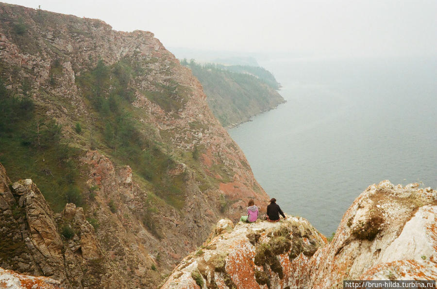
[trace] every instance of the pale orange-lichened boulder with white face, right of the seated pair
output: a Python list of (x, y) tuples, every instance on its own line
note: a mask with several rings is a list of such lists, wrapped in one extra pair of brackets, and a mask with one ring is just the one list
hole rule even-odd
[(436, 191), (373, 184), (344, 214), (333, 241), (313, 256), (312, 288), (349, 280), (437, 279)]

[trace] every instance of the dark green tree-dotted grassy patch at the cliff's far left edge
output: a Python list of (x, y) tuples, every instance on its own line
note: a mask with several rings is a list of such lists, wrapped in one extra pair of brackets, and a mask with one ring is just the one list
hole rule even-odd
[(14, 96), (0, 80), (0, 162), (15, 179), (32, 178), (55, 211), (83, 204), (79, 150), (62, 140), (62, 127), (26, 94)]

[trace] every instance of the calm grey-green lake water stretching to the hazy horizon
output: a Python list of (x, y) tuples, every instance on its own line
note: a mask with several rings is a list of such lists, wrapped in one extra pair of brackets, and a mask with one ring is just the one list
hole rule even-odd
[(437, 188), (437, 59), (261, 65), (287, 103), (229, 133), (284, 211), (330, 236), (373, 183)]

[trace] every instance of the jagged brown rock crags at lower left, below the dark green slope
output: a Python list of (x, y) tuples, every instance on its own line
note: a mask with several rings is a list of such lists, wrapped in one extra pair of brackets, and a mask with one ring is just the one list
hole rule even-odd
[[(0, 164), (1, 267), (50, 276), (65, 288), (137, 286), (134, 282), (138, 280), (125, 278), (123, 268), (115, 265), (110, 252), (102, 251), (101, 241), (85, 219), (83, 208), (69, 203), (62, 213), (54, 214), (31, 179), (10, 186), (9, 183)], [(137, 256), (132, 254), (133, 258)], [(150, 262), (148, 257), (142, 264), (150, 266)], [(138, 263), (141, 262), (135, 264)], [(118, 280), (117, 284), (112, 278)], [(143, 286), (148, 282), (145, 279)]]

